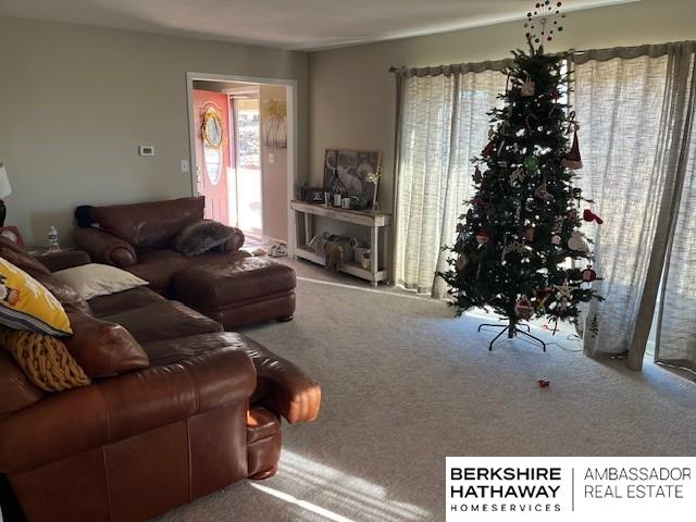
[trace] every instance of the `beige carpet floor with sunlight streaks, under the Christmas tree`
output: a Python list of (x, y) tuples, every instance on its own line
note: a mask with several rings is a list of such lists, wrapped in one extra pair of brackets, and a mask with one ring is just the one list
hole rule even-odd
[[(694, 456), (696, 384), (597, 362), (564, 336), (476, 333), (440, 302), (293, 262), (296, 319), (247, 330), (322, 384), (316, 422), (284, 426), (278, 474), (165, 521), (444, 520), (446, 456)], [(488, 318), (488, 321), (490, 322)], [(550, 381), (542, 389), (537, 381)]]

